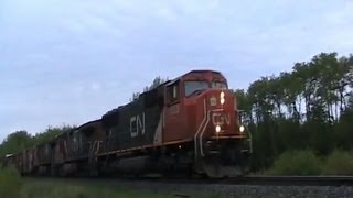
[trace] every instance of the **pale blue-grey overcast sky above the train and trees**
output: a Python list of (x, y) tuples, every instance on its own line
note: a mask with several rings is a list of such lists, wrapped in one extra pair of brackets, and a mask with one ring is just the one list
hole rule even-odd
[(352, 24), (349, 0), (1, 0), (0, 140), (97, 119), (156, 76), (208, 68), (247, 88), (353, 53)]

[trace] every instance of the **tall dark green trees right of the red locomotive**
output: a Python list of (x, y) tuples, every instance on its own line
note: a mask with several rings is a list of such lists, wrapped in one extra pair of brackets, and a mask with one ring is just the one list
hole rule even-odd
[(286, 151), (352, 150), (352, 54), (320, 53), (234, 90), (254, 136), (253, 167), (265, 168)]

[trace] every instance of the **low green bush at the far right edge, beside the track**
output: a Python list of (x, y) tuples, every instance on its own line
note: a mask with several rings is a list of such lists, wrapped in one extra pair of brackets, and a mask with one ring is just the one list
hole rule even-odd
[(353, 154), (335, 150), (327, 158), (323, 175), (353, 175)]

